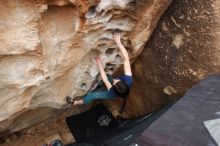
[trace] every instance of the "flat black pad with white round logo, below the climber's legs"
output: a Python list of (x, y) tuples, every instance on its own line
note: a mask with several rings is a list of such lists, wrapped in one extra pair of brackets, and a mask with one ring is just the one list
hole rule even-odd
[(88, 141), (118, 126), (118, 121), (102, 105), (79, 115), (67, 117), (66, 122), (77, 142)]

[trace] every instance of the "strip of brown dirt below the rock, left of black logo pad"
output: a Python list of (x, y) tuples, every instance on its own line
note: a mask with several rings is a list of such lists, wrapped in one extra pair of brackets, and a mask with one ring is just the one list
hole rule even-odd
[[(54, 134), (59, 134), (62, 140), (66, 137), (65, 133), (70, 133), (66, 124), (66, 117), (73, 115), (76, 109), (83, 112), (91, 108), (91, 106), (70, 107), (54, 121), (46, 121), (37, 124), (31, 128), (23, 129), (19, 132), (5, 135), (1, 137), (1, 146), (43, 146), (46, 139)], [(72, 136), (72, 135), (71, 135)], [(72, 137), (71, 137), (72, 138)], [(73, 139), (74, 140), (74, 139)]]

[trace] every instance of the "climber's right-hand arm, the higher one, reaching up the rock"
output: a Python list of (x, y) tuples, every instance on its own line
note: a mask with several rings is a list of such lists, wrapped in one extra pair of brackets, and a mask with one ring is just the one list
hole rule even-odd
[(114, 39), (115, 43), (117, 44), (117, 46), (119, 47), (119, 49), (121, 51), (121, 54), (123, 56), (125, 75), (132, 76), (131, 63), (130, 63), (130, 60), (129, 60), (128, 52), (125, 49), (125, 47), (123, 46), (123, 44), (121, 43), (121, 35), (120, 35), (120, 33), (114, 33), (113, 39)]

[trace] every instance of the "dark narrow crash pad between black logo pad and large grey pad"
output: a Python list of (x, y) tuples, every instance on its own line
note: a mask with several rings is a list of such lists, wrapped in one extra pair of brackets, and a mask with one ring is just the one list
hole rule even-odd
[(141, 118), (121, 121), (117, 128), (112, 128), (101, 135), (84, 139), (82, 143), (72, 143), (68, 146), (130, 146), (144, 129), (166, 112), (171, 105), (167, 105), (160, 111)]

